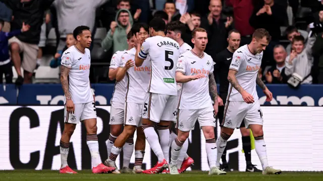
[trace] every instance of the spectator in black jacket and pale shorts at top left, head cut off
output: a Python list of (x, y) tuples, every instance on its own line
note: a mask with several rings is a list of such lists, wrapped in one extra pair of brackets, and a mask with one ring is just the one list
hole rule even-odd
[[(36, 68), (38, 43), (41, 25), (43, 23), (43, 16), (54, 0), (0, 1), (13, 10), (14, 20), (11, 22), (12, 30), (21, 29), (23, 22), (31, 27), (30, 31), (23, 32), (9, 39), (12, 61), (14, 62), (14, 66), (18, 74), (16, 84), (21, 85), (23, 83), (31, 83), (31, 77)], [(24, 69), (24, 77), (22, 77), (20, 70), (21, 52), (23, 52), (22, 67)]]

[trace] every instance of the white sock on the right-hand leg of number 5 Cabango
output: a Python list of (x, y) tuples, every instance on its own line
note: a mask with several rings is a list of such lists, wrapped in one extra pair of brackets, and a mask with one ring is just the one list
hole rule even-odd
[(169, 126), (159, 126), (156, 125), (159, 140), (160, 140), (160, 147), (163, 150), (164, 157), (166, 161), (169, 161), (169, 154), (170, 154), (170, 144), (171, 144), (171, 136)]

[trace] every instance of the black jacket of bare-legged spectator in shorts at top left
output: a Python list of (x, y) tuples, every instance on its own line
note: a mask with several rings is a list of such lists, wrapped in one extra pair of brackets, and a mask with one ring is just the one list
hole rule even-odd
[(50, 8), (53, 1), (55, 0), (31, 0), (30, 2), (20, 3), (20, 0), (0, 0), (13, 11), (12, 30), (21, 29), (23, 22), (30, 25), (29, 31), (16, 36), (20, 41), (30, 44), (39, 43), (44, 13)]

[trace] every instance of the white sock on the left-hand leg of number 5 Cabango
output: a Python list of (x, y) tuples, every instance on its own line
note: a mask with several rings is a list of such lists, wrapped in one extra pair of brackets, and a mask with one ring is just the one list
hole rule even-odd
[(142, 125), (143, 132), (145, 133), (146, 140), (149, 143), (150, 148), (158, 158), (158, 162), (163, 162), (164, 154), (160, 147), (158, 135), (155, 132), (152, 125)]

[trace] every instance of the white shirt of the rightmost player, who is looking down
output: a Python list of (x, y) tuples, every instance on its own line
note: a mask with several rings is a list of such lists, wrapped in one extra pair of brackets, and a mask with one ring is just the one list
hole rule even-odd
[[(260, 69), (262, 54), (252, 54), (248, 45), (243, 45), (238, 48), (234, 53), (229, 69), (236, 70), (236, 78), (241, 87), (253, 96), (253, 99), (258, 99), (256, 91), (256, 78), (258, 70)], [(228, 97), (229, 101), (244, 101), (241, 94), (229, 84)]]

